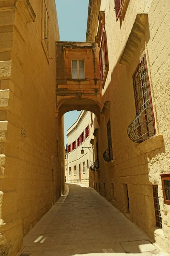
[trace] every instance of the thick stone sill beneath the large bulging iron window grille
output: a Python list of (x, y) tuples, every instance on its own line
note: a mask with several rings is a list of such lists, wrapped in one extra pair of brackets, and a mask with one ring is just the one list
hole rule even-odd
[(141, 155), (141, 154), (148, 153), (150, 151), (154, 151), (163, 146), (164, 146), (163, 134), (156, 134), (153, 137), (150, 137), (148, 140), (145, 140), (142, 143), (138, 144), (136, 147), (133, 147), (133, 150), (137, 154)]

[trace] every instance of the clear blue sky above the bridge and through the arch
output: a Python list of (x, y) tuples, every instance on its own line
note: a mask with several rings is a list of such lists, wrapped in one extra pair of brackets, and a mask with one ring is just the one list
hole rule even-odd
[[(59, 34), (61, 41), (85, 41), (89, 0), (56, 0)], [(65, 144), (67, 130), (77, 120), (80, 112), (64, 115)]]

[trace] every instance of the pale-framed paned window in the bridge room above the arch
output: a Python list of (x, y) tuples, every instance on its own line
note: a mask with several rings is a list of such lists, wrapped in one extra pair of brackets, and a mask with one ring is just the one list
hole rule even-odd
[(85, 78), (84, 60), (72, 60), (72, 79)]

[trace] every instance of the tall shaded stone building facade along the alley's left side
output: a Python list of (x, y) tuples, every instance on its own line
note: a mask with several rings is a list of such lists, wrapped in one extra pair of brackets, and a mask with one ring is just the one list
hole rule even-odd
[(56, 119), (55, 0), (0, 1), (0, 255), (23, 236), (65, 186), (63, 118)]

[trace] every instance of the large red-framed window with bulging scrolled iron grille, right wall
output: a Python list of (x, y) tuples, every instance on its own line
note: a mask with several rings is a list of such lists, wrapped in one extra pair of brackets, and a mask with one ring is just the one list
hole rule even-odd
[(130, 140), (141, 143), (156, 134), (146, 56), (133, 73), (136, 117), (127, 129)]

